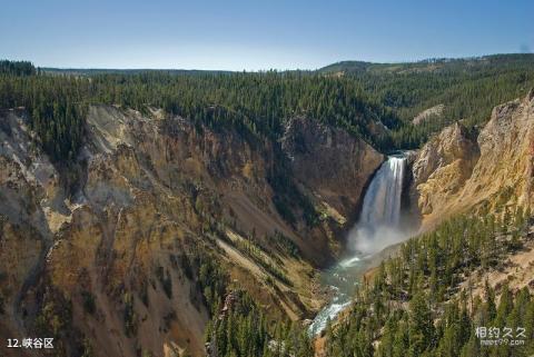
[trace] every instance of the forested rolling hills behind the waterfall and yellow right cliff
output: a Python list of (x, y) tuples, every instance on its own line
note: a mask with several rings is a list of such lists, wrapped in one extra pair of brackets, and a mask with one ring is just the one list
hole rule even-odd
[(443, 113), (392, 132), (398, 147), (415, 148), (443, 127), (464, 120), (483, 125), (493, 107), (524, 96), (534, 87), (534, 54), (494, 54), (467, 59), (428, 59), (413, 63), (346, 61), (320, 69), (350, 77), (374, 100), (411, 122), (425, 109), (443, 105)]

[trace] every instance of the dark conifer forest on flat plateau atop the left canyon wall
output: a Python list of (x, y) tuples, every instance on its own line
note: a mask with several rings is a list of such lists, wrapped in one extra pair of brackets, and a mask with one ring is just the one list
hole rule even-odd
[(148, 108), (162, 108), (211, 128), (229, 126), (275, 141), (295, 116), (343, 127), (379, 148), (390, 146), (388, 133), (372, 132), (372, 126), (399, 125), (353, 80), (305, 72), (61, 76), (21, 75), (12, 68), (17, 66), (11, 62), (0, 71), (0, 108), (26, 107), (42, 146), (58, 161), (76, 156), (89, 103), (119, 105), (145, 113)]

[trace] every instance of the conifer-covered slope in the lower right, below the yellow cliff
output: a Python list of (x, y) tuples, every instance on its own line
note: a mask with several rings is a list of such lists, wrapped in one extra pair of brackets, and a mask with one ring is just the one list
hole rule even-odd
[[(531, 356), (534, 297), (528, 289), (513, 294), (506, 284), (492, 288), (486, 281), (478, 296), (468, 280), (474, 271), (501, 269), (507, 255), (528, 244), (528, 217), (521, 207), (498, 216), (456, 217), (404, 244), (359, 287), (346, 318), (327, 327), (327, 355)], [(479, 328), (498, 329), (501, 336), (484, 337)], [(508, 344), (482, 346), (482, 340), (503, 338), (505, 329), (513, 331)], [(524, 344), (513, 346), (517, 331)]]

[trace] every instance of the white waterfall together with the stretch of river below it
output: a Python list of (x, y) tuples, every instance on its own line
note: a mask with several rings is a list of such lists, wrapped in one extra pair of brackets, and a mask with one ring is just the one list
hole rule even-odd
[(319, 334), (329, 319), (350, 305), (370, 258), (411, 236), (411, 230), (403, 228), (400, 211), (405, 168), (404, 157), (390, 156), (375, 173), (365, 194), (359, 219), (348, 234), (345, 258), (322, 275), (322, 282), (334, 290), (334, 297), (312, 323), (312, 335)]

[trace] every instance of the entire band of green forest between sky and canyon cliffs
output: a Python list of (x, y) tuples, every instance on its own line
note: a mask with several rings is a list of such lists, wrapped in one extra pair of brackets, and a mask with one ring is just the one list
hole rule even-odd
[[(346, 76), (337, 76), (342, 71)], [(333, 76), (332, 73), (336, 73)], [(0, 108), (24, 107), (39, 141), (67, 165), (82, 143), (90, 103), (148, 113), (162, 108), (212, 128), (277, 141), (288, 119), (305, 116), (358, 136), (380, 151), (417, 148), (444, 126), (487, 120), (491, 109), (534, 87), (534, 56), (374, 65), (344, 62), (317, 72), (39, 70), (0, 61)], [(413, 125), (419, 111), (443, 115)]]

